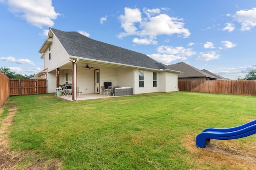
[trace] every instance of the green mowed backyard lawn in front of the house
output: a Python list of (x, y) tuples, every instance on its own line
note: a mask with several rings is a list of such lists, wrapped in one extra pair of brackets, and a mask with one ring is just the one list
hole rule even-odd
[[(201, 159), (205, 151), (194, 146), (196, 135), (256, 117), (256, 96), (172, 92), (67, 102), (44, 94), (8, 100), (19, 107), (11, 149), (58, 158), (69, 170), (228, 169), (228, 161)], [(252, 135), (234, 145), (255, 142)]]

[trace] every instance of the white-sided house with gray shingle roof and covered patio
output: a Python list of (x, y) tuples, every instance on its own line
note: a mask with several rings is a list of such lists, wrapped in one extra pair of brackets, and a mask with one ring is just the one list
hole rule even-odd
[[(101, 94), (104, 82), (132, 87), (133, 94), (177, 91), (180, 71), (142, 53), (96, 41), (77, 32), (49, 28), (39, 49), (47, 78), (48, 92), (72, 84), (85, 94)], [(72, 96), (76, 100), (76, 95)]]

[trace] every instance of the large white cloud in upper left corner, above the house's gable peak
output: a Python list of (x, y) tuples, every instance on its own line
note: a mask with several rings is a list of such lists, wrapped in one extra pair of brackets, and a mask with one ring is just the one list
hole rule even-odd
[(42, 28), (52, 27), (60, 14), (52, 6), (52, 0), (8, 0), (9, 10), (29, 24)]

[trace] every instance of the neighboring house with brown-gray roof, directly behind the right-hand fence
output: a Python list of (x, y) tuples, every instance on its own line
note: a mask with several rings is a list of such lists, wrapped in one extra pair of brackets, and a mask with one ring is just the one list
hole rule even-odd
[(207, 70), (199, 70), (184, 62), (168, 65), (176, 70), (180, 70), (183, 73), (178, 75), (178, 80), (218, 80), (220, 76), (213, 74)]

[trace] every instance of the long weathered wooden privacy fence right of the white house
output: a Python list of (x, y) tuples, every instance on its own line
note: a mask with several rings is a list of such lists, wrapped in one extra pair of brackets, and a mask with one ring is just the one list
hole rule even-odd
[(256, 95), (256, 80), (178, 81), (180, 91)]

